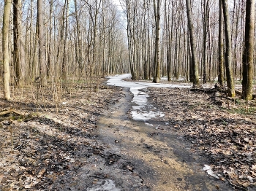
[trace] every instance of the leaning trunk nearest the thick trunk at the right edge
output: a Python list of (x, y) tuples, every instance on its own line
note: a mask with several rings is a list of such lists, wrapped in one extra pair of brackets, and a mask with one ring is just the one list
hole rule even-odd
[(231, 31), (230, 31), (230, 16), (228, 13), (227, 0), (222, 0), (222, 8), (225, 23), (225, 66), (227, 77), (227, 93), (231, 97), (235, 97), (235, 87), (233, 83), (233, 71), (232, 71), (232, 47), (231, 47)]

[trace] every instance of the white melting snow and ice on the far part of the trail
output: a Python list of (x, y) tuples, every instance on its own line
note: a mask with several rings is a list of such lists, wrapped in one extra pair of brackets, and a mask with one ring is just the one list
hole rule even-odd
[[(142, 91), (146, 87), (179, 87), (179, 88), (189, 88), (190, 85), (171, 85), (171, 84), (159, 84), (159, 83), (148, 83), (148, 82), (126, 82), (122, 81), (124, 78), (130, 78), (131, 74), (122, 74), (116, 75), (114, 77), (109, 77), (108, 85), (116, 85), (120, 87), (128, 87), (129, 90), (133, 93), (133, 102), (136, 106), (132, 106), (132, 118), (134, 120), (150, 120), (154, 117), (164, 117), (160, 111), (152, 111), (151, 105), (147, 104), (148, 94), (145, 91)], [(149, 109), (149, 112), (148, 112)]]

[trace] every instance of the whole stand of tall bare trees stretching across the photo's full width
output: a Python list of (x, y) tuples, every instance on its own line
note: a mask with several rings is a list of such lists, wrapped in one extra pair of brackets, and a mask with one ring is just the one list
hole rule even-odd
[(4, 98), (10, 99), (8, 84), (29, 85), (39, 77), (61, 89), (62, 80), (130, 71), (132, 79), (183, 77), (196, 85), (218, 79), (231, 96), (234, 80), (244, 79), (242, 97), (252, 99), (253, 1), (3, 1), (0, 6)]

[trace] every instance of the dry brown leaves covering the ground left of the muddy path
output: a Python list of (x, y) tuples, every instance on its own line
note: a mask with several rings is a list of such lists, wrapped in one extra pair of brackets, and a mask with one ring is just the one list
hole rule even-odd
[[(79, 87), (66, 93), (56, 112), (52, 93), (40, 94), (39, 112), (29, 122), (3, 121), (0, 126), (0, 190), (50, 190), (51, 184), (83, 165), (81, 158), (97, 147), (93, 131), (102, 109), (113, 104), (119, 90)], [(16, 93), (14, 101), (1, 100), (2, 108), (36, 112), (31, 89)], [(24, 112), (24, 111), (23, 111)]]

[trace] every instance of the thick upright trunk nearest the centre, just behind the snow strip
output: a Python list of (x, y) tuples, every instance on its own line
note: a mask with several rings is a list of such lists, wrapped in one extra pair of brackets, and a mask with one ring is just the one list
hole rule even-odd
[(154, 0), (154, 17), (156, 23), (156, 39), (155, 39), (155, 50), (154, 50), (154, 83), (159, 83), (160, 80), (160, 61), (159, 61), (159, 31), (160, 31), (160, 6), (161, 0)]

